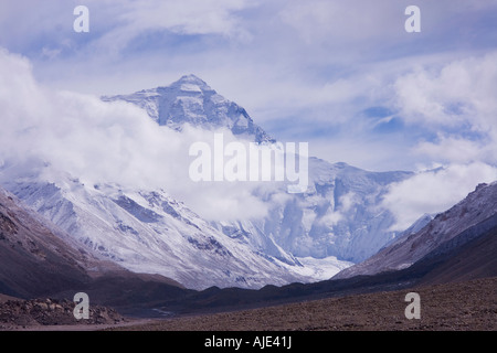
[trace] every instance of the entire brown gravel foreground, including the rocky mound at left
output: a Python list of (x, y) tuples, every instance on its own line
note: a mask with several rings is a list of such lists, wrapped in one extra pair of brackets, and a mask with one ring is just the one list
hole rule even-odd
[[(92, 320), (77, 322), (72, 302), (3, 296), (0, 331), (497, 331), (496, 289), (493, 277), (170, 319), (123, 318), (93, 307)], [(412, 291), (421, 297), (420, 320), (404, 314)]]

